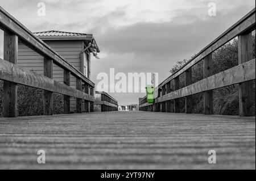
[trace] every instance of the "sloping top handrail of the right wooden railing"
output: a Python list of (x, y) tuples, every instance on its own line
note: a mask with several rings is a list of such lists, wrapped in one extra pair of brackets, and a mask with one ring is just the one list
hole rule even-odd
[(214, 52), (216, 49), (220, 48), (222, 45), (228, 43), (234, 37), (240, 35), (243, 32), (253, 31), (255, 30), (255, 8), (251, 10), (248, 14), (243, 16), (237, 23), (235, 23), (232, 27), (222, 33), (217, 39), (213, 40), (212, 43), (207, 45), (204, 49), (202, 49), (199, 53), (196, 54), (191, 60), (187, 62), (182, 68), (176, 71), (176, 73), (170, 75), (166, 78), (162, 83), (159, 84), (158, 87), (163, 86), (167, 82), (171, 81), (175, 77), (184, 73), (185, 70), (191, 68), (193, 65), (196, 65), (199, 61), (203, 60), (204, 57), (208, 56), (208, 54)]

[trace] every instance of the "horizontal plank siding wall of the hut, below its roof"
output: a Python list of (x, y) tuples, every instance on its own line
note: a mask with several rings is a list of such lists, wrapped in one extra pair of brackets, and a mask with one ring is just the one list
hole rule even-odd
[[(77, 70), (81, 71), (80, 52), (83, 49), (81, 40), (51, 40), (45, 41), (60, 54), (65, 60), (71, 63)], [(26, 45), (20, 44), (18, 47), (18, 65), (28, 70), (36, 71), (36, 73), (43, 75), (43, 56), (34, 52)], [(63, 83), (63, 69), (53, 64), (53, 79)], [(76, 88), (76, 78), (71, 75), (71, 87)], [(71, 99), (71, 111), (76, 110), (76, 100)]]

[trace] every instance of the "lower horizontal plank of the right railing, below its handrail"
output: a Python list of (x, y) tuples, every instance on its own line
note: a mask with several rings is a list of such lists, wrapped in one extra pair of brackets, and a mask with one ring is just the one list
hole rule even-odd
[(192, 85), (183, 87), (182, 89), (170, 92), (169, 94), (156, 99), (155, 102), (160, 103), (166, 100), (182, 98), (184, 96), (251, 81), (253, 79), (255, 79), (255, 59), (234, 66), (228, 70), (221, 71), (220, 73), (204, 78)]

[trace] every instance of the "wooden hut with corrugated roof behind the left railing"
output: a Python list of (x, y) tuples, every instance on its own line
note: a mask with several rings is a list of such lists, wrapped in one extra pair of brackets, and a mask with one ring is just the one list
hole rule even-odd
[[(88, 79), (90, 95), (94, 94), (94, 83), (90, 81), (90, 57), (93, 54), (97, 57), (100, 49), (92, 34), (73, 33), (63, 31), (44, 31), (35, 32), (41, 40), (49, 47), (54, 49), (60, 56), (64, 57), (73, 67), (81, 71)], [(98, 57), (97, 57), (98, 58)], [(26, 45), (19, 42), (18, 46), (18, 65), (28, 70), (33, 70), (38, 74), (44, 74), (44, 58), (34, 52)], [(53, 64), (53, 79), (63, 83), (63, 69)], [(76, 88), (76, 78), (71, 75), (70, 85)], [(83, 87), (85, 89), (85, 87)], [(88, 89), (88, 87), (87, 87)], [(84, 106), (84, 104), (82, 104)], [(71, 112), (76, 112), (76, 100), (71, 99)], [(85, 110), (85, 108), (82, 108)], [(92, 109), (91, 109), (92, 110)]]

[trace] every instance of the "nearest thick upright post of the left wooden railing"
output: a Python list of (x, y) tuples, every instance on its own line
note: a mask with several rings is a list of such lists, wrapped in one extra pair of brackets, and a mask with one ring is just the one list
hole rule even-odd
[[(17, 64), (18, 36), (4, 33), (3, 59)], [(3, 117), (17, 117), (18, 112), (18, 85), (13, 82), (3, 81)]]

